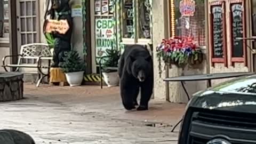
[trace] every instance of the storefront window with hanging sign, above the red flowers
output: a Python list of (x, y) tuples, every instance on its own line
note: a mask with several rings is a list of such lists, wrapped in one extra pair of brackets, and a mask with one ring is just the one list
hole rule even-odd
[[(204, 2), (205, 0), (174, 0), (175, 36), (193, 37), (197, 45), (206, 45)], [(193, 15), (182, 17), (181, 12), (191, 9), (192, 4), (195, 4)]]

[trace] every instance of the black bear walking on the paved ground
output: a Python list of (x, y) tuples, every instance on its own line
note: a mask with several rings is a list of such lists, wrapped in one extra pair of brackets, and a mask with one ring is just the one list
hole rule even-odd
[(124, 108), (131, 110), (138, 105), (137, 97), (141, 90), (140, 106), (137, 110), (148, 110), (154, 75), (153, 60), (147, 48), (142, 45), (126, 47), (119, 61), (118, 75)]

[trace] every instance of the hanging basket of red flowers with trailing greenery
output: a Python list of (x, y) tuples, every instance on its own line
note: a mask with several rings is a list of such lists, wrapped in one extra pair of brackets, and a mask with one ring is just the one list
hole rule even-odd
[(161, 59), (167, 64), (185, 68), (187, 65), (199, 65), (203, 61), (202, 50), (199, 49), (192, 37), (173, 37), (163, 39), (156, 47), (161, 74)]

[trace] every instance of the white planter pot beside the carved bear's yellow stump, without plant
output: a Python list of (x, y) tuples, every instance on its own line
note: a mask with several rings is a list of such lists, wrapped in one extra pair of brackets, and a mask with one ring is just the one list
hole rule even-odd
[(84, 71), (65, 73), (65, 75), (70, 86), (79, 86), (82, 84)]

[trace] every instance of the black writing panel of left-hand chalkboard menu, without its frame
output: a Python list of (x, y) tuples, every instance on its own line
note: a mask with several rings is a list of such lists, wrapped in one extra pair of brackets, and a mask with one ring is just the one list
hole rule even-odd
[(223, 58), (223, 9), (222, 5), (211, 7), (213, 31), (213, 57)]

